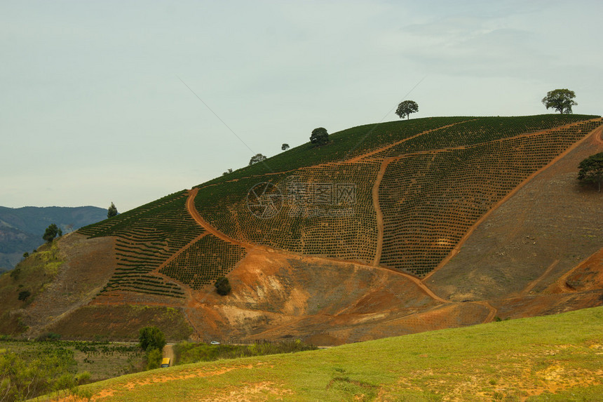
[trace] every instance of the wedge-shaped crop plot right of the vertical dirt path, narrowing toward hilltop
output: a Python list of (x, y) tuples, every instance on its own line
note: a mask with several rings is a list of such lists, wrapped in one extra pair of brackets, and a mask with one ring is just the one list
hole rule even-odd
[(596, 126), (581, 123), (392, 161), (379, 190), (385, 228), (380, 263), (428, 274), (480, 216)]

